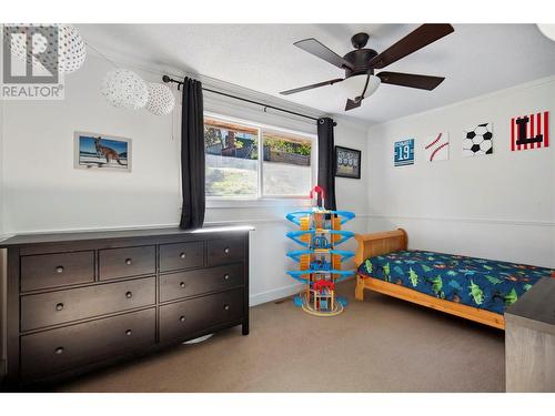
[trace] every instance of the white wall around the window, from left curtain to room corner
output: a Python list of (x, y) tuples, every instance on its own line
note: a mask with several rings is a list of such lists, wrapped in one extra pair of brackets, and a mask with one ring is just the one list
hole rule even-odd
[[(242, 106), (234, 100), (214, 100), (214, 95), (210, 93), (204, 95), (204, 106), (206, 111), (222, 115), (316, 133), (316, 125), (312, 121), (305, 122), (271, 112), (264, 113), (260, 111), (260, 108)], [(367, 129), (347, 120), (335, 120), (337, 122), (334, 131), (335, 144), (364, 150)], [(337, 209), (354, 211), (359, 216), (346, 224), (346, 230), (366, 231), (366, 168), (365, 164), (362, 165), (361, 180), (336, 179)], [(243, 205), (244, 207), (232, 209), (229, 204), (223, 204), (220, 207), (209, 209), (206, 221), (240, 221), (256, 227), (256, 231), (251, 234), (251, 304), (269, 302), (299, 292), (300, 285), (285, 274), (286, 270), (295, 267), (295, 263), (289, 260), (285, 253), (290, 250), (299, 250), (299, 247), (285, 237), (285, 233), (294, 230), (294, 225), (286, 222), (284, 217), (287, 212), (302, 210), (302, 206), (291, 203), (273, 203), (272, 206), (263, 207), (251, 203)], [(344, 248), (354, 250), (354, 240), (345, 243)], [(354, 267), (354, 264), (347, 263), (345, 267)]]

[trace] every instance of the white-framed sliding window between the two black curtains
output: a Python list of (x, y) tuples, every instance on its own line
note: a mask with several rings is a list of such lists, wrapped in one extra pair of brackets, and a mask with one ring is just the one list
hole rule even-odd
[(307, 197), (313, 143), (309, 134), (208, 116), (206, 196)]

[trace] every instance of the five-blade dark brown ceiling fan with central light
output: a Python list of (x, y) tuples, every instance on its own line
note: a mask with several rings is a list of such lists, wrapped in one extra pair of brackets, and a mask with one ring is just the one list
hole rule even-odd
[(387, 71), (374, 74), (374, 70), (385, 68), (452, 32), (454, 32), (454, 29), (448, 23), (422, 24), (420, 28), (408, 33), (406, 37), (381, 53), (377, 53), (373, 49), (364, 48), (370, 38), (367, 33), (356, 33), (351, 38), (351, 43), (355, 50), (349, 52), (344, 57), (340, 57), (314, 38), (301, 40), (293, 44), (337, 68), (343, 69), (345, 71), (345, 77), (295, 88), (293, 90), (282, 91), (281, 94), (290, 95), (319, 87), (333, 85), (350, 78), (366, 75), (362, 93), (354, 99), (347, 99), (345, 111), (349, 111), (361, 106), (362, 100), (374, 93), (382, 82), (431, 91), (440, 85), (445, 78)]

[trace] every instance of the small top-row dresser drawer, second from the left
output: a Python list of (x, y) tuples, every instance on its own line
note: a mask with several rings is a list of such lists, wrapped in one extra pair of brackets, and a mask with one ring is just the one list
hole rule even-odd
[(101, 250), (99, 264), (100, 280), (154, 274), (157, 250), (153, 245)]

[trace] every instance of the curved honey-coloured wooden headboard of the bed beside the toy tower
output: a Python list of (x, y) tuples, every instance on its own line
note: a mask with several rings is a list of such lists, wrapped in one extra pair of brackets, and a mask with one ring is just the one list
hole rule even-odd
[(356, 267), (369, 257), (406, 250), (408, 245), (408, 237), (403, 229), (382, 233), (356, 234), (355, 239), (359, 242), (354, 256)]

